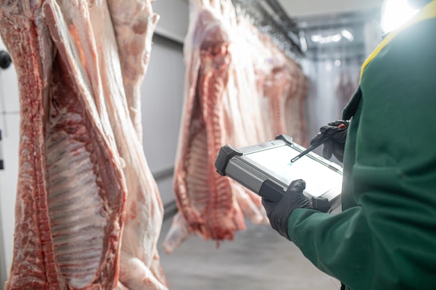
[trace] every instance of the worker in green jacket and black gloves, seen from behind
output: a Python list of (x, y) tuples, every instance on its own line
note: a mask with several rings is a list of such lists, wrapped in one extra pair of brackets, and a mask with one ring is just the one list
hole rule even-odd
[(343, 156), (342, 211), (311, 209), (301, 179), (263, 199), (271, 226), (341, 289), (436, 289), (436, 0), (413, 2), (362, 65), (347, 129), (320, 131), (334, 140), (324, 154)]

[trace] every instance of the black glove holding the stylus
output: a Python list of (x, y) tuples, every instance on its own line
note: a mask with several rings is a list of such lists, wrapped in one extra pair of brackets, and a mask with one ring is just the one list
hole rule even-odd
[[(338, 161), (343, 162), (343, 148), (345, 147), (345, 139), (347, 138), (349, 123), (349, 121), (337, 120), (329, 122), (327, 126), (322, 126), (320, 128), (320, 133), (311, 140), (311, 145), (316, 145), (320, 139), (329, 136), (329, 139), (324, 143), (322, 156), (324, 156), (325, 159), (330, 159), (333, 154)], [(345, 125), (345, 127), (338, 128), (341, 124)]]

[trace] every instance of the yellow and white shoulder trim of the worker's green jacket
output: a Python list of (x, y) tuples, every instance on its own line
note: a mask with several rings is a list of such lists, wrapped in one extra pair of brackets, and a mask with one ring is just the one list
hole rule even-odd
[(421, 8), (421, 10), (419, 10), (418, 13), (416, 13), (416, 15), (414, 15), (414, 17), (412, 17), (403, 26), (400, 26), (398, 29), (388, 33), (386, 35), (386, 37), (382, 40), (382, 42), (380, 42), (380, 44), (374, 49), (373, 53), (370, 56), (368, 56), (368, 58), (366, 58), (366, 61), (364, 62), (364, 64), (361, 67), (359, 83), (361, 82), (361, 78), (362, 78), (362, 75), (364, 74), (364, 70), (365, 70), (366, 65), (368, 65), (368, 63), (371, 63), (373, 58), (375, 58), (375, 56), (377, 56), (377, 54), (380, 51), (382, 51), (382, 49), (393, 38), (395, 38), (396, 35), (398, 35), (398, 33), (400, 33), (401, 31), (403, 31), (405, 29), (407, 29), (408, 27), (412, 26), (413, 24), (416, 24), (416, 23), (421, 22), (423, 20), (434, 18), (434, 17), (436, 17), (436, 0), (431, 1), (426, 6)]

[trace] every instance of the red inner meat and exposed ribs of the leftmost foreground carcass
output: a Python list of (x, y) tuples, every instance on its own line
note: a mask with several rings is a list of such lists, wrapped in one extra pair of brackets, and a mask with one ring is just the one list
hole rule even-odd
[(0, 3), (0, 33), (17, 70), (21, 105), (6, 289), (113, 289), (126, 194), (120, 157), (90, 104), (95, 99), (54, 53), (40, 9)]

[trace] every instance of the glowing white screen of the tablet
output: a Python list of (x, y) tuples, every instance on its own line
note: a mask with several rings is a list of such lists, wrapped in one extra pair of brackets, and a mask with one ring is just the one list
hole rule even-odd
[(283, 184), (290, 184), (295, 179), (303, 179), (306, 182), (306, 192), (312, 196), (320, 196), (330, 189), (341, 186), (342, 175), (328, 166), (302, 156), (294, 163), (290, 163), (300, 152), (290, 146), (273, 147), (244, 154), (249, 161), (260, 165), (260, 169), (279, 179)]

